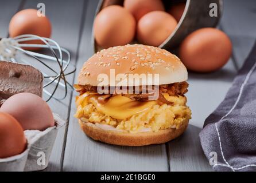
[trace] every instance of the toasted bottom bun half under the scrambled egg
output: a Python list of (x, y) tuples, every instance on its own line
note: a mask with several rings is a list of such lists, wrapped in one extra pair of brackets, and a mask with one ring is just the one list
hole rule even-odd
[(106, 142), (107, 144), (122, 146), (143, 146), (150, 144), (162, 144), (179, 137), (187, 129), (189, 118), (186, 118), (179, 129), (164, 129), (158, 132), (115, 132), (113, 130), (103, 130), (91, 122), (82, 122), (79, 124), (87, 136), (96, 141)]

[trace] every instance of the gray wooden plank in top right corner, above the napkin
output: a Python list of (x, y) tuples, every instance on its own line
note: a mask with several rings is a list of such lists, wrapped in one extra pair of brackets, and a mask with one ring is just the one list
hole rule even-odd
[(233, 58), (240, 68), (256, 38), (256, 2), (254, 0), (225, 0), (222, 29), (230, 35)]

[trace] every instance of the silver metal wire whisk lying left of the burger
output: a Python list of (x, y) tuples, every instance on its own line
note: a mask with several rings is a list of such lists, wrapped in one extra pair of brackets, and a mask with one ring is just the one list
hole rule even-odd
[[(41, 41), (44, 44), (24, 43), (25, 41), (34, 40)], [(42, 48), (48, 51), (49, 54), (28, 51), (23, 49), (23, 47)], [(69, 82), (67, 82), (66, 77), (67, 75), (75, 73), (76, 68), (70, 63), (71, 58), (69, 51), (67, 49), (64, 49), (63, 47), (60, 47), (57, 42), (49, 38), (42, 38), (32, 34), (19, 35), (14, 38), (0, 38), (0, 59), (33, 65), (25, 59), (18, 58), (18, 52), (34, 58), (36, 61), (40, 62), (46, 69), (48, 69), (49, 72), (51, 72), (51, 74), (48, 74), (42, 70), (42, 67), (37, 68), (44, 75), (44, 80), (46, 81), (46, 83), (44, 83), (44, 93), (48, 96), (48, 99), (46, 100), (47, 102), (52, 98), (55, 98), (56, 100), (63, 100), (65, 97), (67, 97), (68, 87), (73, 90), (73, 86)], [(65, 54), (65, 59), (63, 53)], [(51, 61), (51, 64), (54, 64), (52, 66), (49, 65), (49, 61)], [(57, 66), (59, 71), (56, 71), (56, 69), (53, 68), (54, 66)], [(67, 72), (68, 67), (71, 66), (73, 67), (73, 69)], [(49, 90), (47, 89), (47, 87), (49, 87), (50, 85), (55, 85), (51, 92), (49, 92)], [(64, 88), (64, 96), (55, 97), (56, 90), (59, 87)]]

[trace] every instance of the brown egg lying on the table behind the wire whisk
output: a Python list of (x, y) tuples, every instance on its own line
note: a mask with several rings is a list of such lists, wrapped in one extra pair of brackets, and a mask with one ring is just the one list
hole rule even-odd
[[(38, 16), (40, 11), (35, 9), (21, 10), (11, 18), (9, 24), (10, 37), (16, 37), (22, 34), (34, 34), (40, 37), (51, 37), (52, 26), (51, 22), (46, 16)], [(22, 43), (42, 44), (42, 41), (26, 41)], [(34, 48), (26, 47), (28, 50), (35, 50)]]

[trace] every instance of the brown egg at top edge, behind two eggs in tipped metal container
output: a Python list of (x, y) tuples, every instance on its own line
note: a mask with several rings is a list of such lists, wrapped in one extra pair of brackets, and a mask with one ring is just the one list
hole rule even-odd
[(150, 11), (165, 11), (161, 0), (125, 0), (123, 6), (133, 14), (136, 21)]

